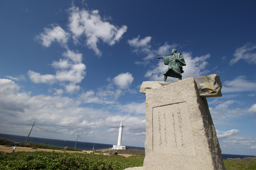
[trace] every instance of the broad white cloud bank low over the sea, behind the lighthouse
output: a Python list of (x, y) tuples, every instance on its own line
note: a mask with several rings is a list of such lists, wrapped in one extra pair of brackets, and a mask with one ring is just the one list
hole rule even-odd
[[(120, 111), (116, 107), (116, 103), (121, 107), (118, 102), (108, 103), (108, 107), (102, 109), (81, 106), (83, 104), (82, 98), (63, 97), (61, 96), (63, 93), (62, 89), (53, 90), (56, 91), (56, 96), (30, 96), (25, 92), (20, 93), (19, 85), (15, 84), (12, 80), (0, 79), (1, 120), (6, 123), (22, 122), (22, 124), (27, 125), (33, 124), (35, 121), (36, 126), (46, 130), (72, 135), (82, 130), (81, 136), (90, 136), (90, 142), (99, 142), (98, 138), (101, 139), (100, 141), (106, 138), (106, 143), (116, 142), (118, 130), (117, 134), (114, 134), (113, 129), (118, 128), (120, 122), (123, 121), (125, 126), (123, 137), (130, 138), (136, 145), (140, 143), (143, 146), (146, 135), (144, 115), (137, 117), (126, 116), (125, 111)], [(86, 95), (92, 96), (94, 93), (91, 90)], [(109, 111), (111, 108), (114, 109)], [(129, 110), (129, 112), (132, 112), (132, 110)], [(11, 125), (1, 127), (1, 130), (7, 129), (8, 131), (29, 131), (29, 129), (19, 129)], [(108, 132), (110, 134), (106, 136)], [(67, 140), (67, 136), (60, 135), (57, 137), (56, 135), (58, 134), (44, 134), (42, 130), (37, 128), (33, 128), (33, 133)], [(130, 142), (129, 145), (133, 146), (134, 144)]]

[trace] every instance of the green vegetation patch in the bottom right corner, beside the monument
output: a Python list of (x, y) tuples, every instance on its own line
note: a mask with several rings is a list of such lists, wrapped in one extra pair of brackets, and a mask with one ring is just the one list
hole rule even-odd
[(226, 170), (256, 170), (255, 161), (224, 161)]

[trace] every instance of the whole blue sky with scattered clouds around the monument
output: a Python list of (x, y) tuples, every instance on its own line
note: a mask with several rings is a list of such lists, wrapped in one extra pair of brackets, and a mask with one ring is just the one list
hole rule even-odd
[[(182, 53), (182, 78), (218, 74), (207, 98), (222, 153), (256, 153), (256, 2), (0, 2), (1, 122), (144, 147), (143, 81), (163, 79), (156, 57)], [(168, 77), (167, 81), (176, 80)], [(0, 124), (0, 133), (31, 127)], [(13, 132), (5, 132), (13, 131)], [(26, 133), (14, 133), (26, 132)], [(31, 136), (76, 140), (33, 128)], [(37, 135), (35, 135), (37, 134)]]

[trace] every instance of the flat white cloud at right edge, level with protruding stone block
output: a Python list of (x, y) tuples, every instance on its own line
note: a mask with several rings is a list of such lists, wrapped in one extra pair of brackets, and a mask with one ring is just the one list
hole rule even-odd
[(234, 80), (225, 81), (222, 83), (222, 93), (240, 92), (240, 91), (253, 91), (256, 90), (256, 82), (248, 81), (246, 76), (238, 76)]

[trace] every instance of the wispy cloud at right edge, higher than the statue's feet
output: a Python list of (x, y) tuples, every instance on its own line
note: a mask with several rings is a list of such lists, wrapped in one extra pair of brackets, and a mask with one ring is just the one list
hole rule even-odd
[(255, 44), (247, 43), (242, 47), (236, 49), (233, 54), (234, 58), (230, 60), (229, 64), (233, 65), (240, 59), (247, 61), (250, 64), (256, 64), (256, 52), (252, 52), (252, 50), (256, 49)]

